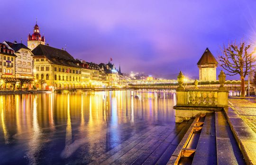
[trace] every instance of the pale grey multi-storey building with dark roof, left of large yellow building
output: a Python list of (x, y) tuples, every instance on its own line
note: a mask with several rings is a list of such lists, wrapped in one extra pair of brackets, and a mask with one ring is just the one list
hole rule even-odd
[(15, 75), (16, 78), (30, 78), (33, 79), (33, 54), (30, 49), (27, 48), (23, 43), (17, 43), (14, 41), (3, 42), (9, 49), (14, 50), (15, 55)]

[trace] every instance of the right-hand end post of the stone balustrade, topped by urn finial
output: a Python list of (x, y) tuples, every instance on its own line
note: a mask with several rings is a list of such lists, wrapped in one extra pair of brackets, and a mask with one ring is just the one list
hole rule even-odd
[(226, 74), (221, 70), (219, 77), (219, 91), (218, 91), (218, 107), (228, 107), (229, 91), (224, 87), (226, 82)]

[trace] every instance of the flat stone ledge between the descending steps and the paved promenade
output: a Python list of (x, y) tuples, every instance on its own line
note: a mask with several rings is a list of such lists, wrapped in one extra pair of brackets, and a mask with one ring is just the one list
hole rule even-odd
[(256, 165), (256, 133), (232, 108), (224, 112), (247, 165)]

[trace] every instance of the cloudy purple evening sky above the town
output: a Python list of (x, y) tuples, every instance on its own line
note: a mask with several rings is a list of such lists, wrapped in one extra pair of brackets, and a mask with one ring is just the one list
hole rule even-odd
[(217, 57), (228, 41), (256, 44), (256, 0), (3, 0), (0, 8), (0, 41), (27, 44), (37, 17), (50, 46), (96, 63), (111, 57), (126, 73), (198, 76), (206, 47)]

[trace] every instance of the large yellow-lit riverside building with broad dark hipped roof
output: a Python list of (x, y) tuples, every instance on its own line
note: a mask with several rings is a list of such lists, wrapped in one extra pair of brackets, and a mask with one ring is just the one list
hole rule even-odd
[(82, 88), (81, 62), (74, 59), (67, 51), (39, 44), (32, 53), (37, 88), (40, 88), (40, 79), (46, 80), (44, 88), (49, 90), (52, 87)]

